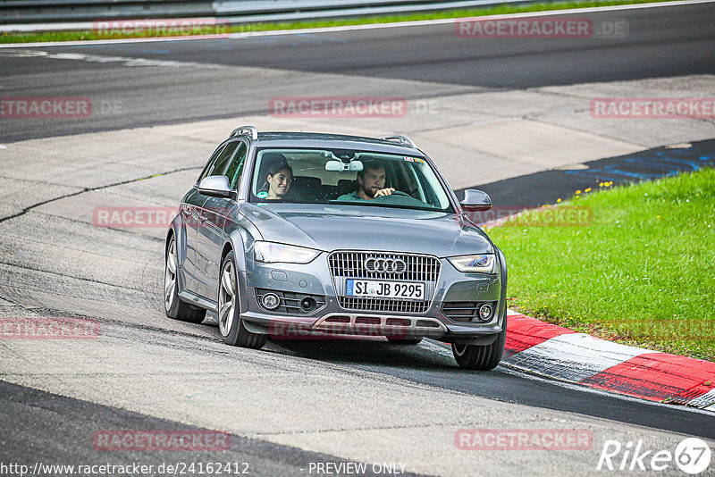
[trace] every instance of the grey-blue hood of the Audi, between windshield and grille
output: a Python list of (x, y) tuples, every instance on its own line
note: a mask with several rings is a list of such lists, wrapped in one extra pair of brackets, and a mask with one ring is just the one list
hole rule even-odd
[(355, 205), (244, 204), (265, 240), (326, 252), (400, 251), (440, 257), (492, 253), (484, 231), (458, 214)]

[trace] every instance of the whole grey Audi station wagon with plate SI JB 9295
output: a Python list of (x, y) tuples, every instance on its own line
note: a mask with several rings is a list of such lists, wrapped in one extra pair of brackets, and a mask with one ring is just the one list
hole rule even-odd
[(223, 341), (326, 335), (451, 344), (489, 370), (507, 330), (507, 265), (404, 136), (231, 132), (181, 199), (166, 236), (167, 316), (218, 314)]

